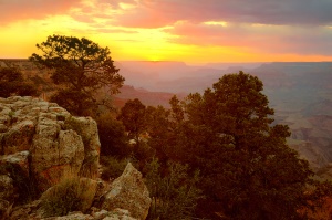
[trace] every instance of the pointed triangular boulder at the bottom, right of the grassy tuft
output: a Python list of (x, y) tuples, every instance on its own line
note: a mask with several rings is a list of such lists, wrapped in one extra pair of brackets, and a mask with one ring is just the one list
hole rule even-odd
[(112, 182), (111, 190), (104, 196), (102, 208), (128, 210), (133, 218), (144, 220), (147, 217), (151, 198), (142, 174), (127, 164), (122, 176)]

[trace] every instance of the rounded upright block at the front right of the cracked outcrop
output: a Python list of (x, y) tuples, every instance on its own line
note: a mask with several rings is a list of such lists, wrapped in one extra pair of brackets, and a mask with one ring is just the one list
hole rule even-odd
[[(42, 127), (43, 125), (41, 125)], [(31, 149), (31, 170), (42, 189), (59, 182), (63, 175), (77, 175), (84, 160), (84, 145), (74, 130), (37, 127)]]

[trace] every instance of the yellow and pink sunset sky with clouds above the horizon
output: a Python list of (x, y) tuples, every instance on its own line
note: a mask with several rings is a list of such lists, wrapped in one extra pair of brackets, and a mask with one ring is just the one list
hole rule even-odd
[(115, 61), (332, 61), (332, 0), (0, 0), (1, 59), (52, 34)]

